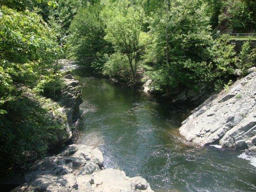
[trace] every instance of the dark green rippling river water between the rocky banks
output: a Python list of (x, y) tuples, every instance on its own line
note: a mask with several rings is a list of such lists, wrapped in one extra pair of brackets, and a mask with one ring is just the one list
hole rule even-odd
[(109, 80), (74, 76), (84, 100), (74, 143), (98, 146), (105, 168), (142, 176), (155, 192), (256, 191), (255, 158), (190, 146), (179, 135), (193, 106), (174, 107)]

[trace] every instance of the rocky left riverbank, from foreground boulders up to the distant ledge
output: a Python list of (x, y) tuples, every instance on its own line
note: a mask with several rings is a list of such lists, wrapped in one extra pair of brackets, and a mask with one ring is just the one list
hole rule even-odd
[(141, 177), (129, 178), (121, 170), (104, 169), (103, 155), (97, 147), (83, 144), (60, 147), (72, 138), (70, 127), (78, 119), (82, 103), (81, 87), (71, 75), (77, 66), (66, 60), (61, 62), (65, 85), (57, 101), (59, 104), (50, 102), (60, 105), (56, 109), (58, 114), (51, 112), (51, 116), (65, 124), (66, 130), (63, 131), (67, 136), (58, 136), (58, 142), (49, 146), (56, 150), (60, 148), (61, 152), (33, 163), (23, 173), (23, 184), (12, 192), (153, 192)]

